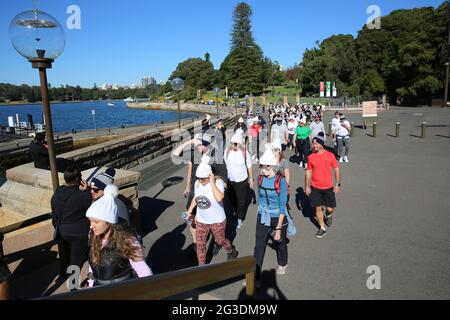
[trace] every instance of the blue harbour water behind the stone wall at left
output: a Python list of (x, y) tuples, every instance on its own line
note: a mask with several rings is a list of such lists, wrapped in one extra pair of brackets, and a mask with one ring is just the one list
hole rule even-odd
[[(108, 105), (113, 103), (114, 105)], [(94, 112), (93, 112), (94, 110)], [(177, 113), (160, 110), (129, 109), (122, 100), (95, 101), (80, 103), (51, 104), (53, 130), (56, 133), (70, 132), (72, 129), (93, 130), (100, 128), (129, 127), (177, 120)], [(33, 116), (33, 122), (43, 123), (42, 104), (0, 105), (0, 125), (8, 126), (8, 116), (19, 114), (20, 121), (27, 121), (27, 114)], [(95, 113), (93, 115), (93, 113)], [(182, 112), (181, 119), (196, 117), (191, 112)]]

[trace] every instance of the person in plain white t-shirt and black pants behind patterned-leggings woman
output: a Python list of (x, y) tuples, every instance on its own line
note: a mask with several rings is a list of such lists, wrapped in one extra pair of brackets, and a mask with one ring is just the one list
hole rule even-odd
[(231, 146), (225, 150), (228, 173), (227, 194), (237, 216), (237, 228), (241, 228), (247, 215), (248, 188), (254, 190), (251, 155), (245, 148), (244, 137), (238, 132), (231, 138)]

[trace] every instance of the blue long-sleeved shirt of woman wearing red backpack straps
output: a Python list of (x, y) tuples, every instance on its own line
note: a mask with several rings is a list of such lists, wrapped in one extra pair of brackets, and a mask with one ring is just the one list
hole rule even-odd
[[(261, 187), (275, 189), (276, 175), (272, 178), (263, 177)], [(287, 203), (287, 183), (283, 177), (280, 181), (280, 194), (276, 190), (258, 190), (258, 214), (261, 215), (261, 223), (270, 225), (271, 218), (278, 218), (281, 214), (286, 214)]]

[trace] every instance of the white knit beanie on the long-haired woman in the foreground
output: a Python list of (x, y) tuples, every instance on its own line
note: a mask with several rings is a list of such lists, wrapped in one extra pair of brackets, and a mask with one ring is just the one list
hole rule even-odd
[(111, 224), (116, 224), (119, 221), (117, 204), (115, 198), (119, 194), (119, 189), (109, 184), (106, 186), (104, 195), (91, 204), (86, 212), (86, 217), (99, 219)]

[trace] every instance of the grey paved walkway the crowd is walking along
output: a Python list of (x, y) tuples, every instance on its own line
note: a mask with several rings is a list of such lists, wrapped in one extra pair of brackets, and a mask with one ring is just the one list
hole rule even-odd
[[(327, 128), (331, 116), (325, 117)], [(268, 249), (264, 287), (257, 297), (449, 299), (450, 110), (393, 108), (379, 115), (376, 138), (370, 136), (371, 128), (362, 130), (360, 114), (347, 118), (356, 128), (350, 163), (340, 164), (342, 188), (332, 228), (324, 238), (315, 237), (310, 210), (301, 211), (296, 204), (296, 199), (303, 202), (299, 188), (304, 170), (291, 163), (290, 205), (297, 235), (288, 246), (288, 272), (276, 275), (275, 252)], [(395, 134), (396, 121), (401, 122), (400, 138), (390, 136)], [(422, 121), (431, 126), (426, 139), (417, 137)], [(191, 235), (180, 219), (185, 182), (167, 189), (161, 185), (168, 177), (184, 178), (184, 167), (172, 165), (165, 155), (134, 170), (142, 172), (139, 194), (149, 264), (158, 273), (193, 266)], [(253, 254), (255, 223), (256, 206), (251, 204), (234, 238), (240, 256)], [(212, 263), (225, 259), (221, 250)], [(380, 290), (366, 286), (367, 268), (372, 265), (381, 270)], [(204, 291), (220, 299), (244, 294), (240, 279)]]

